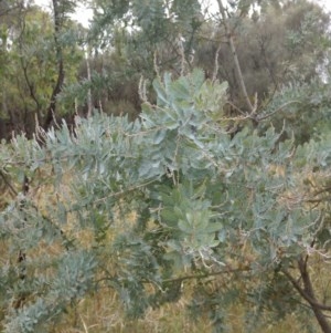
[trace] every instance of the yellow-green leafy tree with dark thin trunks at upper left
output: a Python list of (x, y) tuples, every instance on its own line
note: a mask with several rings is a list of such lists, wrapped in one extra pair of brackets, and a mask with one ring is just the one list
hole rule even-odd
[(4, 15), (12, 19), (10, 25), (2, 25), (8, 38), (6, 58), (1, 59), (1, 105), (2, 116), (10, 124), (3, 137), (11, 134), (10, 129), (31, 136), (36, 124), (47, 128), (64, 113), (61, 106), (55, 111), (56, 97), (64, 83), (77, 80), (77, 62), (83, 59), (77, 48), (78, 27), (66, 18), (70, 9), (64, 4), (58, 9), (56, 24), (61, 27), (56, 29), (49, 13), (29, 3), (18, 6), (15, 14), (9, 11)]

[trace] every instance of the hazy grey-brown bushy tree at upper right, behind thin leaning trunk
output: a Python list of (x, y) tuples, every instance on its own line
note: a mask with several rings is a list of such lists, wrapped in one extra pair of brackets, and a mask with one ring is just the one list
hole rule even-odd
[[(263, 3), (264, 10), (259, 13), (254, 11), (243, 17), (235, 7), (228, 18), (248, 95), (253, 100), (257, 93), (260, 103), (288, 83), (318, 79), (319, 64), (323, 63), (330, 43), (330, 19), (319, 6), (308, 1), (289, 1), (282, 8), (267, 1)], [(212, 21), (205, 29), (205, 34), (214, 34), (218, 42), (202, 41), (196, 48), (195, 64), (213, 73), (217, 53), (217, 77), (228, 82), (232, 101), (242, 105), (243, 96), (223, 25)]]

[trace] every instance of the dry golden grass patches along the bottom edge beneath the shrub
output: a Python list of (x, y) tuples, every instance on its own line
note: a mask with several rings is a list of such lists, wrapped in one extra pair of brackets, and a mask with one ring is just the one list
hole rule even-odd
[[(117, 296), (108, 291), (88, 299), (82, 300), (75, 311), (61, 324), (54, 327), (52, 333), (200, 333), (212, 332), (211, 322), (206, 318), (200, 318), (194, 322), (186, 315), (185, 295), (175, 304), (167, 304), (158, 310), (147, 312), (143, 320), (128, 321)], [(229, 333), (245, 333), (242, 306), (229, 309)], [(277, 325), (259, 327), (256, 333), (289, 333), (301, 332), (297, 320), (289, 315)]]

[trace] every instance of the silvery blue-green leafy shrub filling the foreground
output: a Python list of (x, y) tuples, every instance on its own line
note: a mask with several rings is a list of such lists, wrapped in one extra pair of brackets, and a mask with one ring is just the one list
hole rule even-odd
[(134, 123), (96, 114), (74, 132), (65, 122), (41, 132), (42, 146), (2, 145), (2, 171), (41, 181), (52, 169), (54, 184), (53, 205), (20, 194), (0, 215), (3, 332), (49, 332), (105, 288), (139, 318), (188, 281), (192, 313), (207, 313), (215, 332), (235, 304), (261, 321), (302, 312), (289, 277), (329, 249), (330, 138), (295, 149), (267, 124), (231, 135), (227, 86), (201, 70), (153, 86), (158, 104)]

